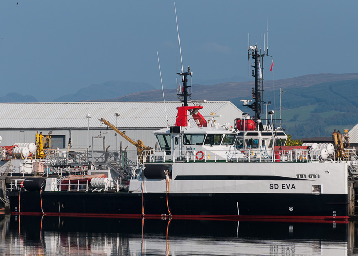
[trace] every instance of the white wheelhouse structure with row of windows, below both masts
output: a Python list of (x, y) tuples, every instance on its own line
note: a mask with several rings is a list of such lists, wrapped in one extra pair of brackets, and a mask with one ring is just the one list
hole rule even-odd
[(198, 151), (225, 158), (229, 151), (269, 150), (284, 146), (287, 135), (283, 131), (237, 131), (234, 129), (191, 128), (182, 132), (161, 129), (154, 132), (165, 155), (190, 155)]

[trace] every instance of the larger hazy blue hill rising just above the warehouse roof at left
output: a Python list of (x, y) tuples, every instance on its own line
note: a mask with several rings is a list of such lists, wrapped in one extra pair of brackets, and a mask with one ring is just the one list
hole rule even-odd
[(61, 96), (57, 99), (54, 99), (53, 102), (74, 102), (108, 99), (152, 89), (155, 88), (149, 83), (108, 81), (102, 84), (92, 84), (92, 86), (81, 88), (75, 94)]

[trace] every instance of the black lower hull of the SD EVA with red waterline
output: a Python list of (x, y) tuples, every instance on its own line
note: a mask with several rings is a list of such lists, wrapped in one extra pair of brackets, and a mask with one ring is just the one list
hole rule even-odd
[[(167, 194), (21, 191), (10, 193), (13, 214), (61, 216), (347, 219), (346, 194)], [(19, 198), (21, 204), (19, 204)], [(143, 208), (142, 208), (143, 199)], [(42, 208), (41, 208), (42, 203)], [(169, 210), (168, 210), (169, 206)]]

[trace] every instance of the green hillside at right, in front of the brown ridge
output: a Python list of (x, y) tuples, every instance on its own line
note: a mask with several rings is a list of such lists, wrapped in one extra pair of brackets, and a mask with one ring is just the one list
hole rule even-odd
[[(294, 139), (332, 136), (334, 129), (342, 132), (352, 129), (358, 124), (357, 87), (358, 79), (284, 88), (281, 95), (282, 127)], [(276, 105), (275, 118), (279, 119), (279, 88), (266, 92), (265, 98), (271, 100), (269, 110)], [(232, 102), (242, 109), (239, 99)], [(265, 114), (261, 118), (265, 118)]]

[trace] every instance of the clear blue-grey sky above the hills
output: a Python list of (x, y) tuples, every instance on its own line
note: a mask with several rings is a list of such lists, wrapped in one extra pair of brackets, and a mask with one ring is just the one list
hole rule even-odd
[[(17, 4), (18, 1), (18, 4)], [(177, 1), (183, 67), (193, 84), (248, 77), (250, 45), (263, 48), (265, 79), (358, 72), (358, 1)], [(111, 80), (175, 87), (180, 51), (174, 1), (3, 0), (1, 94), (41, 102)], [(251, 72), (250, 72), (251, 73)]]

